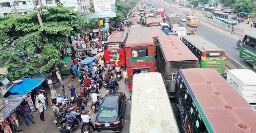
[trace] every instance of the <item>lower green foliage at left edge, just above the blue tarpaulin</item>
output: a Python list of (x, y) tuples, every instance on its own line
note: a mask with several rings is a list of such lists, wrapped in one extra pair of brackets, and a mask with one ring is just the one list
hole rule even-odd
[(9, 73), (0, 75), (0, 79), (7, 76), (9, 80), (14, 81), (23, 76), (30, 77), (38, 73), (31, 60), (25, 60), (17, 51), (6, 48), (8, 47), (0, 44), (0, 64), (1, 67), (7, 67)]

